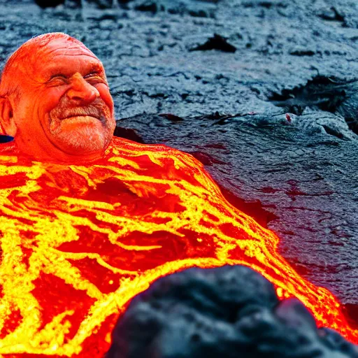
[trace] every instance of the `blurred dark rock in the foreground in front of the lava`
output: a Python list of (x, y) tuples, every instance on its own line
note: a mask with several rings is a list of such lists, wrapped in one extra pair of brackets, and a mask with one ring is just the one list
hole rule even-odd
[(136, 296), (113, 331), (106, 358), (344, 358), (355, 345), (318, 330), (297, 299), (278, 301), (245, 266), (189, 268)]

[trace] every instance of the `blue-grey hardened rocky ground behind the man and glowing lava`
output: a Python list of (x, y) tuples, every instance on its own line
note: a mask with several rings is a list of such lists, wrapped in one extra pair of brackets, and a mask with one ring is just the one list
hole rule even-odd
[(83, 41), (106, 68), (116, 134), (195, 155), (357, 318), (358, 3), (79, 3), (0, 0), (1, 65), (31, 36)]

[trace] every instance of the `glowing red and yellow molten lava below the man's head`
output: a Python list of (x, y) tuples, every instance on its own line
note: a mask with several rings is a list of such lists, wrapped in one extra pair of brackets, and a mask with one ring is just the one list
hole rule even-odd
[(128, 301), (183, 268), (244, 264), (350, 341), (335, 297), (277, 253), (278, 237), (223, 198), (203, 166), (115, 138), (92, 165), (0, 152), (0, 354), (102, 357)]

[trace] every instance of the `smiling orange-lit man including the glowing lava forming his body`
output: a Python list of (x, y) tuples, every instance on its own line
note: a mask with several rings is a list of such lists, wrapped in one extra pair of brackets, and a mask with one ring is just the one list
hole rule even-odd
[(127, 302), (190, 266), (251, 266), (281, 298), (357, 337), (326, 289), (277, 253), (278, 238), (232, 207), (200, 162), (113, 138), (103, 65), (45, 34), (8, 59), (0, 84), (0, 355), (102, 357)]

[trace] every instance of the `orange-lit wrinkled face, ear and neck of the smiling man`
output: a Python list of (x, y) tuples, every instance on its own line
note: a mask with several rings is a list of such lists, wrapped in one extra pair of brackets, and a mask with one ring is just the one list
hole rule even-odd
[(17, 148), (36, 159), (91, 162), (113, 137), (113, 99), (99, 59), (65, 36), (17, 65), (12, 75), (21, 95), (1, 101), (0, 122)]

